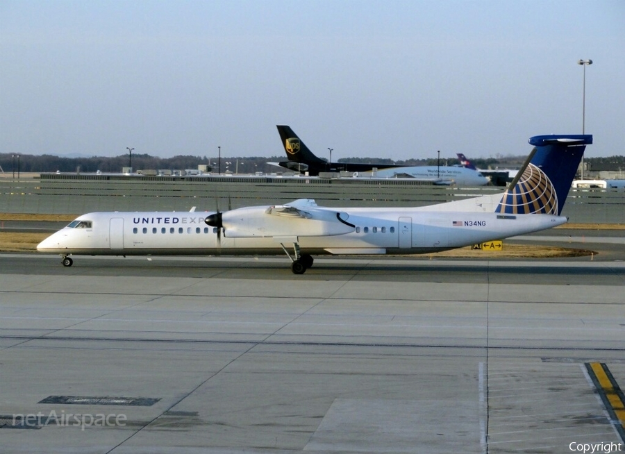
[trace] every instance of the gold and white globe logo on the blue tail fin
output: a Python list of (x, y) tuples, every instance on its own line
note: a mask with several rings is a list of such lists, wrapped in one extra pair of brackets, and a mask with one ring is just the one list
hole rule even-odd
[(558, 196), (549, 177), (529, 164), (512, 189), (506, 190), (495, 212), (512, 215), (557, 215)]

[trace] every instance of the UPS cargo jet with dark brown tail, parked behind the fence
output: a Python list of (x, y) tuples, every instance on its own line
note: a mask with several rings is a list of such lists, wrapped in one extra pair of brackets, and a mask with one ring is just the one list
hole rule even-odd
[(319, 172), (350, 171), (358, 172), (359, 176), (362, 177), (415, 178), (435, 185), (455, 184), (458, 186), (484, 186), (489, 181), (479, 171), (464, 167), (327, 162), (310, 151), (308, 146), (301, 141), (290, 126), (278, 125), (277, 128), (284, 151), (289, 158), (288, 161), (278, 162), (278, 165), (299, 171), (302, 174), (308, 172), (310, 176), (317, 176)]

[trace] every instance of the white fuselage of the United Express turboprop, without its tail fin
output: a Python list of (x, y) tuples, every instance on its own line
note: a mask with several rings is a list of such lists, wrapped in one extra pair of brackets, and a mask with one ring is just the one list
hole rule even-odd
[[(553, 215), (445, 212), (428, 207), (319, 207), (315, 211), (315, 216), (322, 212), (319, 219), (276, 220), (266, 214), (267, 208), (245, 208), (241, 211), (241, 220), (247, 220), (244, 230), (228, 232), (224, 224), (221, 238), (217, 227), (204, 223), (212, 212), (92, 212), (76, 219), (84, 222), (72, 223), (83, 226), (70, 224), (37, 249), (62, 255), (281, 254), (281, 244), (297, 243), (308, 254), (406, 254), (443, 251), (566, 222), (565, 217)], [(238, 212), (226, 213), (235, 217)], [(337, 213), (345, 222), (336, 220)]]

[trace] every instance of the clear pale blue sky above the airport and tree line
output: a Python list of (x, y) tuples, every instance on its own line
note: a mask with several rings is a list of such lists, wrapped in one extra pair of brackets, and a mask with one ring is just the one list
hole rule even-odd
[(0, 153), (625, 154), (625, 1), (0, 0)]

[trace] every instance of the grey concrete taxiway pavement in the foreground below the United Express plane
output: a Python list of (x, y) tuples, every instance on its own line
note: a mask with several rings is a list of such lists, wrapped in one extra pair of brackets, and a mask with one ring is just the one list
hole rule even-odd
[(625, 383), (619, 260), (317, 258), (294, 276), (283, 258), (2, 254), (0, 269), (2, 453), (623, 443), (592, 376)]

